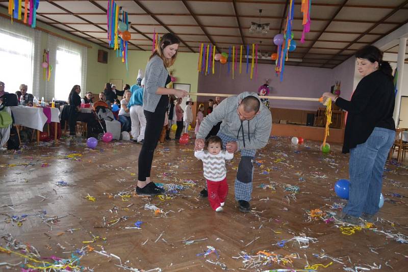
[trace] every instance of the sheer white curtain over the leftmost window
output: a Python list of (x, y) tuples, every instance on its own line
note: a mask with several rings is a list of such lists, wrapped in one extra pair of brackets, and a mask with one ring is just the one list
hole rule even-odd
[[(3, 43), (1, 50), (4, 55), (3, 57), (5, 58), (1, 60), (1, 62), (2, 67), (7, 69), (7, 71), (2, 71), (0, 73), (0, 76), (2, 77), (0, 80), (6, 83), (6, 91), (14, 93), (18, 90), (20, 84), (26, 84), (29, 87), (29, 93), (39, 96), (39, 74), (41, 73), (41, 69), (38, 68), (41, 68), (42, 61), (41, 31), (21, 23), (11, 23), (10, 19), (0, 17), (0, 34), (3, 35), (4, 39), (10, 41), (9, 44), (5, 40), (1, 41)], [(27, 42), (25, 43), (25, 46), (22, 45), (21, 41), (24, 41), (24, 43)], [(19, 50), (20, 47), (21, 49), (22, 47), (24, 48)], [(19, 63), (17, 60), (22, 61), (23, 63)], [(23, 73), (27, 73), (28, 76), (23, 76)], [(19, 74), (21, 75), (21, 78), (15, 78), (13, 76)], [(3, 78), (4, 76), (9, 78)], [(20, 79), (23, 77), (23, 80), (26, 82), (20, 82)], [(8, 82), (10, 83), (8, 84)]]

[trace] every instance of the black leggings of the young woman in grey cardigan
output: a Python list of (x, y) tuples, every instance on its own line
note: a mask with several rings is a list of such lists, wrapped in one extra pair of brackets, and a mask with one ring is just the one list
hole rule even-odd
[(140, 181), (146, 181), (146, 178), (150, 177), (153, 154), (155, 153), (157, 142), (159, 141), (163, 129), (168, 99), (167, 95), (162, 95), (154, 113), (143, 111), (146, 117), (146, 129), (144, 131), (144, 140), (138, 161), (138, 180)]

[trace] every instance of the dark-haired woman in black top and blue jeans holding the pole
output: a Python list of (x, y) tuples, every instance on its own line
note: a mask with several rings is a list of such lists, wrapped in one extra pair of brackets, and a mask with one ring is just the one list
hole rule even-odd
[(382, 173), (388, 152), (395, 139), (393, 119), (395, 93), (390, 64), (382, 52), (369, 45), (355, 53), (359, 73), (363, 76), (351, 100), (332, 93), (324, 98), (348, 112), (344, 131), (343, 153), (350, 152), (349, 198), (335, 219), (359, 224), (359, 217), (371, 221), (378, 211)]

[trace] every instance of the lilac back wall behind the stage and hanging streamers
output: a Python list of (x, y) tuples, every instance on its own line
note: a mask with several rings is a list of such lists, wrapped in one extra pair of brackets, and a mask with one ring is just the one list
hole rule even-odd
[[(220, 70), (221, 66), (221, 70)], [(258, 64), (257, 78), (249, 79), (249, 74), (244, 72), (227, 74), (227, 65), (216, 63), (214, 75), (198, 76), (198, 92), (202, 93), (221, 93), (221, 94), (239, 94), (244, 91), (258, 92), (258, 88), (269, 78), (271, 96), (293, 96), (293, 97), (312, 97), (319, 98), (323, 92), (329, 91), (330, 86), (334, 85), (333, 70), (314, 67), (286, 66), (283, 82), (275, 76), (275, 65)], [(199, 101), (206, 101), (209, 97), (199, 97)], [(213, 98), (213, 97), (212, 97)], [(290, 100), (271, 100), (271, 107), (278, 108), (296, 108), (298, 110), (317, 110), (319, 102), (313, 101), (290, 101)]]

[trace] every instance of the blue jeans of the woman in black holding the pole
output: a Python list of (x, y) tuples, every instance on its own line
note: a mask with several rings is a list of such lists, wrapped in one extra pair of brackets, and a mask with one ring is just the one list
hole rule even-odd
[(394, 130), (375, 127), (364, 144), (350, 150), (350, 187), (344, 213), (359, 217), (362, 212), (378, 211), (382, 172), (394, 140)]

